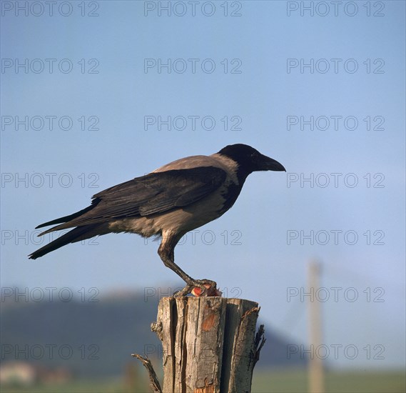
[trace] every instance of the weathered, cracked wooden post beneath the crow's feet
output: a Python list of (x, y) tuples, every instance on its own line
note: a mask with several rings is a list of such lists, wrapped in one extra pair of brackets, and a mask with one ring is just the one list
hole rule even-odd
[(249, 393), (265, 343), (263, 325), (255, 334), (258, 312), (243, 299), (161, 299), (151, 329), (163, 345), (162, 392)]

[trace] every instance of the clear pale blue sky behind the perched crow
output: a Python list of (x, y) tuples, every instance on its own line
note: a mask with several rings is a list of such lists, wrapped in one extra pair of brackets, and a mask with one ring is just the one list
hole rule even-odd
[[(29, 261), (34, 227), (174, 159), (250, 144), (288, 173), (251, 175), (230, 212), (177, 247), (176, 262), (258, 301), (267, 324), (308, 342), (308, 304), (287, 293), (300, 293), (319, 259), (320, 285), (331, 296), (341, 288), (322, 302), (323, 344), (360, 350), (330, 357), (333, 366), (404, 366), (405, 2), (343, 2), (337, 16), (319, 1), (313, 16), (300, 15), (310, 1), (229, 1), (228, 16), (225, 2), (201, 2), (193, 16), (172, 1), (171, 16), (159, 16), (166, 3), (68, 1), (52, 16), (46, 6), (35, 16), (38, 4), (24, 16), (1, 1), (1, 285), (106, 294), (176, 284), (158, 244), (131, 234)], [(171, 73), (145, 68), (168, 59)], [(28, 130), (16, 125), (26, 116)], [(171, 130), (158, 129), (168, 116)], [(385, 359), (367, 359), (367, 345)]]

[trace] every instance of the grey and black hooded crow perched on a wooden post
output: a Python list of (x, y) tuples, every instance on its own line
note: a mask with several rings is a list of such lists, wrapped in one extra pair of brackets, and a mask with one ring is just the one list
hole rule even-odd
[(39, 225), (36, 228), (58, 224), (39, 236), (74, 229), (29, 258), (36, 259), (68, 243), (111, 232), (158, 236), (161, 237), (158, 254), (163, 264), (186, 282), (176, 296), (186, 296), (194, 287), (200, 288), (201, 294), (213, 294), (215, 282), (192, 279), (183, 272), (174, 262), (174, 249), (184, 234), (227, 212), (253, 171), (285, 171), (285, 168), (246, 144), (225, 146), (210, 156), (178, 159), (150, 174), (98, 192), (91, 205), (80, 212)]

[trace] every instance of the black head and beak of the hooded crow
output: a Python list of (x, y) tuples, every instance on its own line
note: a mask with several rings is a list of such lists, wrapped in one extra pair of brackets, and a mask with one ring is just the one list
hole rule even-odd
[(258, 150), (247, 144), (229, 144), (218, 153), (236, 161), (238, 169), (247, 176), (254, 171), (286, 171), (278, 161), (260, 154)]

